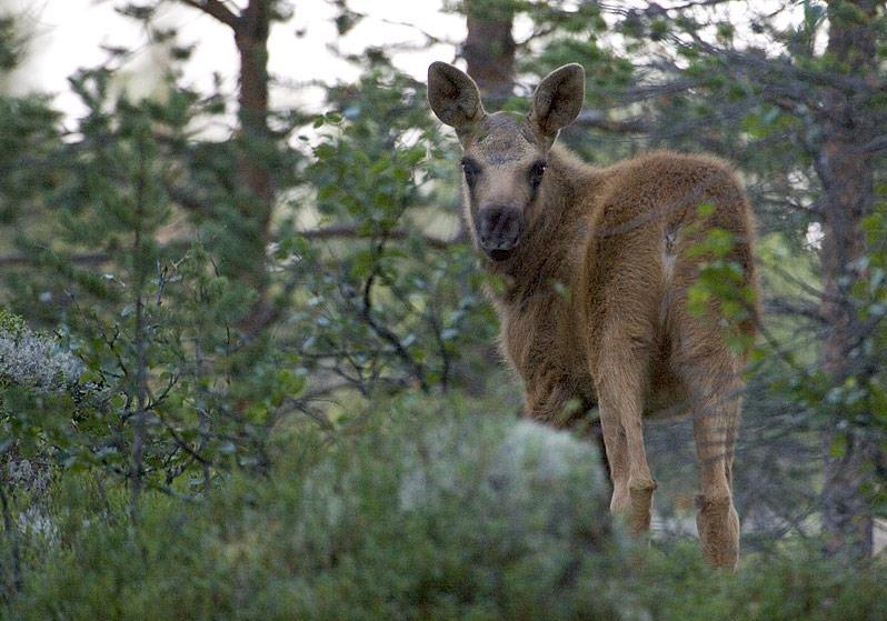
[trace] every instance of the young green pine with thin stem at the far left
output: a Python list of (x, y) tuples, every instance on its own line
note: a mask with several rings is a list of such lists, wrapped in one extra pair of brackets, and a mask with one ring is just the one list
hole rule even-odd
[[(19, 451), (63, 468), (124, 477), (137, 468), (149, 487), (192, 493), (219, 471), (267, 465), (268, 431), (305, 378), (290, 371), (295, 354), (242, 340), (237, 324), (253, 294), (219, 272), (200, 238), (159, 239), (175, 213), (168, 171), (187, 143), (193, 96), (114, 100), (110, 79), (99, 69), (72, 81), (89, 112), (69, 158), (54, 162), (43, 206), (52, 242), (20, 246), (34, 262), (12, 283), (14, 307), (61, 323), (87, 371), (66, 393), (6, 385), (6, 431)], [(81, 249), (102, 258), (101, 272), (69, 259)]]

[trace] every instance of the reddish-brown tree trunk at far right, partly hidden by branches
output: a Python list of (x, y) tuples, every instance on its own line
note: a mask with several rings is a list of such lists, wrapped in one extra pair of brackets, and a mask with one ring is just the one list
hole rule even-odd
[[(846, 76), (866, 77), (876, 70), (875, 32), (870, 19), (875, 0), (829, 2), (827, 56), (843, 67)], [(847, 7), (858, 10), (848, 17)], [(845, 10), (841, 10), (844, 8)], [(830, 331), (824, 343), (821, 362), (833, 385), (840, 385), (863, 369), (851, 351), (858, 338), (854, 283), (861, 276), (860, 259), (866, 254), (863, 219), (874, 203), (871, 154), (857, 149), (876, 131), (874, 120), (855, 101), (849, 88), (828, 88), (819, 112), (823, 131), (816, 154), (816, 171), (825, 193), (823, 249), (820, 252), (825, 298), (823, 317)], [(870, 481), (870, 441), (843, 412), (834, 412), (824, 433), (825, 481), (823, 523), (827, 550), (846, 557), (871, 554), (871, 509), (866, 497)], [(837, 450), (836, 450), (837, 449)]]

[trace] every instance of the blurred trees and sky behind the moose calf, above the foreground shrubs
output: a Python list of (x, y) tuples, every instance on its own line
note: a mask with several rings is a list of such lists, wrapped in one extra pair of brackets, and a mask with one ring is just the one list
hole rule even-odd
[[(0, 0), (7, 530), (58, 521), (70, 477), (136, 520), (144, 494), (273, 478), (293, 447), (387, 412), (520, 415), (459, 147), (426, 102), (433, 60), (517, 111), (581, 63), (586, 106), (560, 140), (592, 164), (654, 148), (732, 163), (765, 309), (735, 465), (744, 549), (883, 548), (875, 0)], [(729, 299), (730, 267), (709, 267), (698, 299)], [(655, 539), (692, 540), (691, 423), (647, 439)], [(42, 558), (13, 543), (10, 593)]]

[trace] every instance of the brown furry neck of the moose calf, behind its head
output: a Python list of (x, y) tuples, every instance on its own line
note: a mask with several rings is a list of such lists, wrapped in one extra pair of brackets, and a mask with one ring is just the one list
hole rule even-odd
[(589, 171), (561, 147), (551, 149), (547, 164), (534, 217), (515, 254), (501, 262), (482, 260), (488, 271), (505, 277), (507, 288), (500, 300), (506, 303), (551, 290), (554, 282), (569, 286), (572, 281), (575, 261), (569, 254), (586, 234), (584, 214), (574, 202)]

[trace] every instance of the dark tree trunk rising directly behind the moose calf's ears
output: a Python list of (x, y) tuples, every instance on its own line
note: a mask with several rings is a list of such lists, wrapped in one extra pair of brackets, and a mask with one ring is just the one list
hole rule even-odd
[(462, 57), (468, 74), (490, 104), (498, 107), (515, 86), (515, 11), (508, 1), (467, 0), (466, 16), (468, 37)]

